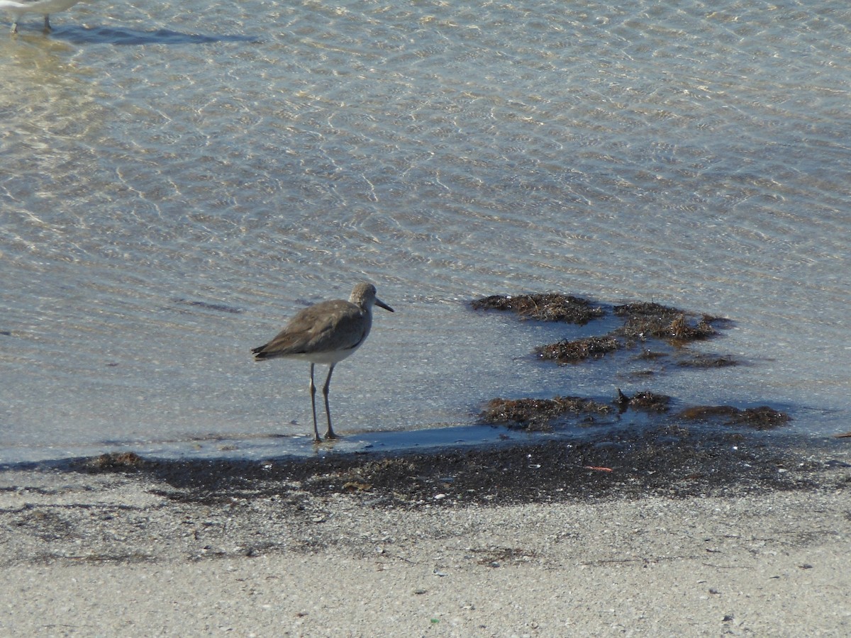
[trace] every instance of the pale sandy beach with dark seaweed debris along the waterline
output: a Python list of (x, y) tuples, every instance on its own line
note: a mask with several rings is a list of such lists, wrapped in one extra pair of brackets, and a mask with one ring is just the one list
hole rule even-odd
[(0, 633), (848, 635), (846, 447), (737, 441), (9, 468)]

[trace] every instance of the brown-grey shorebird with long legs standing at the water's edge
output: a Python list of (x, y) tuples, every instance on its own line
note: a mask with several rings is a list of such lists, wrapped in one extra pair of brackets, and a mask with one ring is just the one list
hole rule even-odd
[(313, 434), (317, 443), (322, 441), (317, 427), (317, 388), (313, 383), (313, 367), (317, 363), (327, 363), (328, 377), (325, 379), (322, 393), (325, 397), (325, 415), (328, 417), (328, 431), (325, 438), (334, 439), (331, 427), (331, 410), (328, 407), (328, 385), (334, 366), (350, 356), (363, 345), (372, 328), (373, 305), (385, 310), (393, 309), (375, 296), (375, 287), (371, 283), (358, 283), (351, 291), (348, 301), (334, 299), (323, 301), (300, 310), (275, 339), (266, 345), (252, 348), (255, 361), (265, 361), (283, 357), (311, 362), (311, 407), (313, 408)]

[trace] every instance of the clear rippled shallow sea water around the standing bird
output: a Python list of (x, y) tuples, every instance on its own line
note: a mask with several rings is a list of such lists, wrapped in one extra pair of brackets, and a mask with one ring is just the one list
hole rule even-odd
[[(851, 430), (847, 3), (51, 22), (0, 35), (0, 462), (311, 453), (306, 363), (249, 349), (362, 279), (397, 312), (334, 373), (344, 449), (492, 437), (494, 396), (615, 386)], [(751, 365), (552, 367), (528, 353), (599, 328), (465, 305), (550, 291), (727, 316), (696, 349)]]

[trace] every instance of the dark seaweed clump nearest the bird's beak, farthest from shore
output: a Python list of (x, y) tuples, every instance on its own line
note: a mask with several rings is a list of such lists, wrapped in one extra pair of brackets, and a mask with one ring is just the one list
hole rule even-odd
[(592, 305), (587, 299), (558, 293), (514, 296), (494, 294), (476, 299), (471, 306), (473, 310), (511, 310), (521, 319), (575, 323), (580, 326), (605, 315), (602, 308)]

